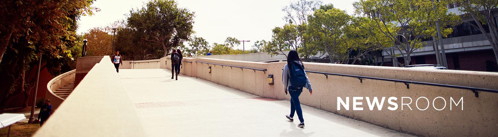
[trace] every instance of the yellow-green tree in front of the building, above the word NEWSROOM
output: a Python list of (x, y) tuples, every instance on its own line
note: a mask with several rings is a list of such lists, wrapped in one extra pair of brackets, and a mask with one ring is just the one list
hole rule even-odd
[[(454, 13), (447, 14), (445, 3), (436, 2), (433, 5), (430, 0), (360, 0), (353, 5), (357, 13), (372, 18), (377, 29), (391, 41), (393, 46), (388, 49), (392, 50), (384, 51), (392, 57), (394, 67), (409, 65), (415, 50), (435, 42), (422, 41), (436, 36), (434, 22), (459, 18)], [(441, 24), (447, 25), (451, 24)], [(446, 36), (452, 29), (441, 28), (441, 31), (442, 36)], [(397, 61), (397, 56), (403, 57), (404, 64)]]

